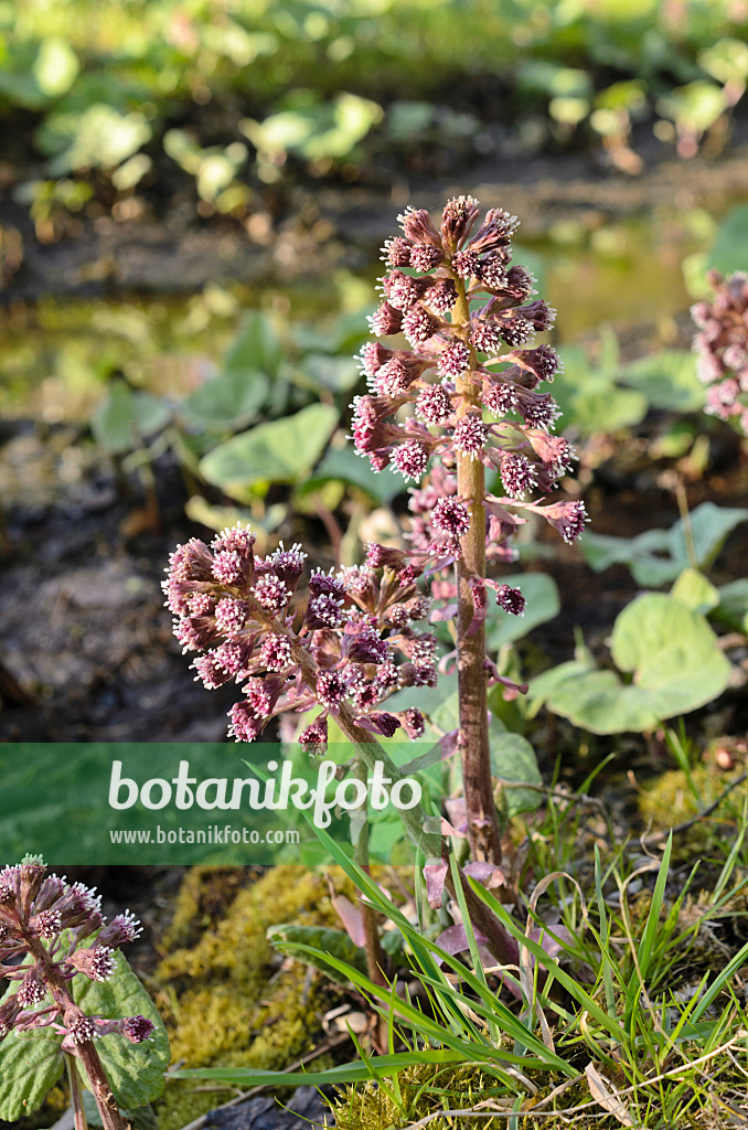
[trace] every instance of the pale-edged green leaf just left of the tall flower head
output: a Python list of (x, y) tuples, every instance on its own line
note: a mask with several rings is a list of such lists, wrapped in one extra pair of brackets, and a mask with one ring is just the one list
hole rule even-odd
[(200, 473), (238, 502), (261, 483), (301, 483), (337, 421), (332, 405), (310, 405), (294, 416), (259, 424), (210, 451), (200, 461)]

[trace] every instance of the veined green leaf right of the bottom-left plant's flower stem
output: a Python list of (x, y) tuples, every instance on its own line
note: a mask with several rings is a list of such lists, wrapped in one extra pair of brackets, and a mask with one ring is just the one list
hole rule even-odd
[(120, 950), (108, 981), (78, 976), (72, 984), (76, 1002), (90, 1016), (145, 1016), (153, 1023), (153, 1038), (142, 1044), (120, 1035), (103, 1036), (96, 1044), (118, 1105), (146, 1106), (163, 1093), (169, 1061), (168, 1036), (153, 1000)]

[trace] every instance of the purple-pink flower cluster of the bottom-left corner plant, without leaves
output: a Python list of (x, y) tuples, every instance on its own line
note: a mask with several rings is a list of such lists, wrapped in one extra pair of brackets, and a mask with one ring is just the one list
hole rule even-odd
[(0, 1041), (14, 1028), (52, 1028), (63, 1036), (64, 1051), (77, 1054), (81, 1044), (110, 1033), (133, 1044), (149, 1040), (154, 1026), (146, 1017), (87, 1016), (70, 992), (78, 974), (108, 981), (115, 950), (139, 935), (129, 911), (105, 922), (95, 890), (47, 875), (34, 857), (1, 870), (0, 975), (18, 986), (0, 1005)]

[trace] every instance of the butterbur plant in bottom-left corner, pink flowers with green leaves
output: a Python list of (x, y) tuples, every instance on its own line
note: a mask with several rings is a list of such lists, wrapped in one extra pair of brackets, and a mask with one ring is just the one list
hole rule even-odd
[[(40, 1106), (66, 1066), (76, 1130), (86, 1127), (81, 1084), (104, 1130), (124, 1130), (120, 1107), (160, 1092), (165, 1033), (116, 953), (139, 935), (129, 911), (106, 922), (95, 890), (49, 875), (37, 857), (0, 871), (0, 975), (10, 982), (0, 1002), (0, 1118)], [(142, 1011), (130, 1015), (132, 1003)], [(118, 1042), (153, 1046), (123, 1058)]]

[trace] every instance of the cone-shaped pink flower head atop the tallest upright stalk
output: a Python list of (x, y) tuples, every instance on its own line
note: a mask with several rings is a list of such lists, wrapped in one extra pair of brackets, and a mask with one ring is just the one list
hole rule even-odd
[[(487, 551), (511, 559), (506, 542), (529, 511), (567, 541), (586, 521), (581, 502), (541, 505), (528, 492), (550, 492), (574, 452), (553, 435), (558, 406), (541, 386), (562, 370), (548, 345), (555, 311), (534, 297), (534, 279), (512, 266), (515, 216), (490, 209), (478, 225), (472, 197), (447, 201), (437, 228), (424, 209), (400, 217), (402, 235), (388, 240), (383, 302), (371, 319), (377, 340), (360, 365), (369, 392), (353, 408), (356, 450), (375, 470), (392, 464), (406, 479), (430, 483), (412, 492), (414, 542), (424, 553), (460, 556), (468, 511), (455, 496), (455, 459), (480, 460), (497, 472), (503, 494), (487, 495)], [(379, 339), (403, 334), (408, 348)], [(412, 409), (403, 411), (406, 406)]]

